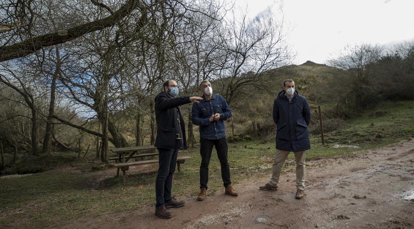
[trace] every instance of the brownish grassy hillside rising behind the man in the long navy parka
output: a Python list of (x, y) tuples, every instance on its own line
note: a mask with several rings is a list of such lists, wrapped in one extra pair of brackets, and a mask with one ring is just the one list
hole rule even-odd
[[(248, 86), (230, 104), (234, 123), (238, 127), (237, 134), (251, 128), (253, 120), (262, 125), (273, 125), (271, 118), (273, 100), (282, 90), (282, 83), (286, 78), (295, 81), (296, 90), (307, 98), (312, 108), (320, 105), (322, 112), (330, 117), (329, 109), (335, 107), (338, 96), (341, 95), (336, 80), (341, 73), (341, 70), (334, 67), (311, 61), (266, 71), (256, 86)], [(312, 123), (316, 122), (316, 116), (312, 110)]]

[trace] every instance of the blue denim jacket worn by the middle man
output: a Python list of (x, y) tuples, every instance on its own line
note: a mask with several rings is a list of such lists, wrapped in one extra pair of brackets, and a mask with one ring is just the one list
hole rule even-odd
[[(219, 113), (220, 119), (209, 121), (211, 114)], [(231, 117), (231, 110), (223, 96), (212, 94), (211, 99), (192, 104), (192, 123), (199, 125), (200, 137), (204, 139), (218, 139), (225, 136), (224, 120)]]

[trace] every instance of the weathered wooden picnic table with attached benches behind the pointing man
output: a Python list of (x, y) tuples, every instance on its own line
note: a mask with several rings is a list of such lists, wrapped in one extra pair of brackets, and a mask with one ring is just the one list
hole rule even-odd
[[(117, 168), (116, 176), (119, 176), (119, 169), (121, 169), (123, 180), (125, 180), (125, 173), (129, 169), (129, 166), (158, 163), (158, 159), (128, 161), (131, 158), (156, 156), (158, 155), (158, 152), (147, 152), (147, 153), (138, 154), (138, 152), (140, 151), (155, 150), (155, 149), (156, 147), (153, 145), (140, 145), (140, 146), (131, 146), (131, 147), (123, 147), (123, 148), (112, 148), (110, 150), (114, 153), (117, 153), (118, 156), (112, 156), (112, 157), (109, 157), (108, 159), (115, 161), (115, 163), (113, 163), (112, 165)], [(178, 171), (180, 171), (180, 164), (183, 164), (185, 160), (188, 160), (188, 159), (191, 159), (191, 157), (190, 156), (178, 156), (177, 157)]]

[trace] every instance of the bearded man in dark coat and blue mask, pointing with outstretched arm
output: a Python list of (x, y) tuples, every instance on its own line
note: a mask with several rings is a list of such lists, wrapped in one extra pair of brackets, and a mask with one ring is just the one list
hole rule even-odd
[(174, 80), (166, 80), (163, 87), (164, 91), (155, 97), (157, 123), (155, 146), (159, 151), (159, 168), (155, 180), (155, 215), (160, 218), (170, 218), (172, 215), (167, 208), (184, 205), (183, 201), (171, 197), (172, 174), (175, 171), (178, 149), (187, 148), (184, 119), (178, 106), (190, 102), (198, 103), (202, 98), (176, 97), (178, 85)]

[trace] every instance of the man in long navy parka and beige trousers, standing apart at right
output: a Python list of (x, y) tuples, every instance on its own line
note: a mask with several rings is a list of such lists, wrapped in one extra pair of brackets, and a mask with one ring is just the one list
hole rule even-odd
[(273, 103), (273, 120), (277, 125), (276, 154), (272, 165), (270, 181), (260, 190), (277, 190), (280, 171), (284, 160), (293, 151), (296, 161), (296, 198), (304, 196), (305, 150), (310, 149), (307, 126), (310, 121), (310, 107), (306, 98), (294, 90), (294, 81), (286, 79), (283, 90)]

